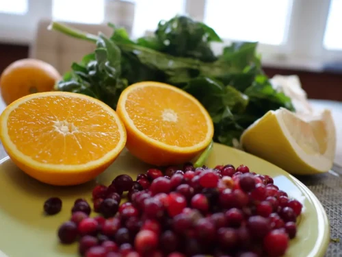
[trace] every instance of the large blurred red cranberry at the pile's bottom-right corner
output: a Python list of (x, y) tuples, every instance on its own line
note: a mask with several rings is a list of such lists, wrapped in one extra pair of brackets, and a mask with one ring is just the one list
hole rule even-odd
[(263, 247), (268, 256), (282, 256), (289, 247), (289, 237), (281, 230), (272, 230), (265, 236)]

